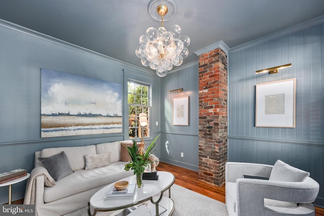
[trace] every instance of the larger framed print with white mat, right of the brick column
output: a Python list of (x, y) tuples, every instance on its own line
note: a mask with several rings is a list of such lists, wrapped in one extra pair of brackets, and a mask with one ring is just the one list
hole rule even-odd
[(257, 127), (295, 127), (296, 78), (256, 85)]

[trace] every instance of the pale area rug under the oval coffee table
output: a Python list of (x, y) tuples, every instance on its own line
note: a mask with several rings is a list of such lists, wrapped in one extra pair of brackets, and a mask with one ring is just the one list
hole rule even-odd
[[(164, 193), (164, 196), (169, 196), (169, 191)], [(171, 187), (171, 198), (174, 200), (175, 207), (173, 216), (228, 216), (226, 205), (215, 199), (198, 194), (194, 191), (173, 185)], [(98, 212), (98, 216), (107, 216), (112, 212)], [(87, 207), (78, 209), (64, 216), (86, 216), (88, 215)]]

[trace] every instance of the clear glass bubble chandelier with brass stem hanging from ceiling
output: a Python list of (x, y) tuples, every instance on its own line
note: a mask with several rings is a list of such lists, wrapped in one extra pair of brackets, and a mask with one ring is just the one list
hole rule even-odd
[(164, 16), (168, 13), (167, 5), (158, 5), (156, 12), (161, 18), (161, 27), (149, 27), (146, 33), (140, 36), (140, 46), (136, 48), (135, 53), (144, 66), (150, 66), (156, 70), (158, 76), (163, 77), (173, 66), (180, 66), (188, 56), (190, 38), (187, 35), (181, 36), (179, 25), (171, 26), (169, 31), (163, 26)]

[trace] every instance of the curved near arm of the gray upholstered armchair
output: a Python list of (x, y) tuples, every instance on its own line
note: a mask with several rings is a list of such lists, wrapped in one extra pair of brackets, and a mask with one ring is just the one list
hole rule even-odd
[[(238, 215), (277, 215), (264, 205), (264, 199), (279, 200), (293, 203), (310, 203), (316, 199), (319, 185), (308, 177), (304, 182), (278, 182), (257, 179), (237, 179), (236, 210)], [(310, 205), (312, 206), (312, 205)], [(296, 208), (299, 214), (301, 208)], [(253, 212), (251, 212), (253, 209)], [(278, 209), (278, 208), (277, 208)], [(284, 211), (285, 208), (282, 208)], [(308, 209), (312, 212), (313, 209)], [(306, 214), (303, 214), (306, 215)]]

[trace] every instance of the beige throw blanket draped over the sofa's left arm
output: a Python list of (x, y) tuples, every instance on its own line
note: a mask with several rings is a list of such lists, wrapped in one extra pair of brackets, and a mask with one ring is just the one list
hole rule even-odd
[(47, 169), (43, 166), (37, 166), (30, 172), (30, 177), (27, 182), (27, 188), (24, 198), (24, 204), (35, 204), (35, 192), (36, 192), (36, 178), (38, 176), (44, 176), (44, 185), (47, 187), (55, 186), (54, 179), (50, 176)]

